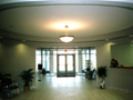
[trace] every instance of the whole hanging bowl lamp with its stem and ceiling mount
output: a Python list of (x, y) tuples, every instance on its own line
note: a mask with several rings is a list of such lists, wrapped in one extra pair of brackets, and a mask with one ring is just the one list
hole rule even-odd
[(62, 42), (71, 42), (74, 39), (74, 37), (68, 34), (69, 26), (64, 26), (64, 28), (65, 28), (65, 36), (60, 36), (59, 38)]

